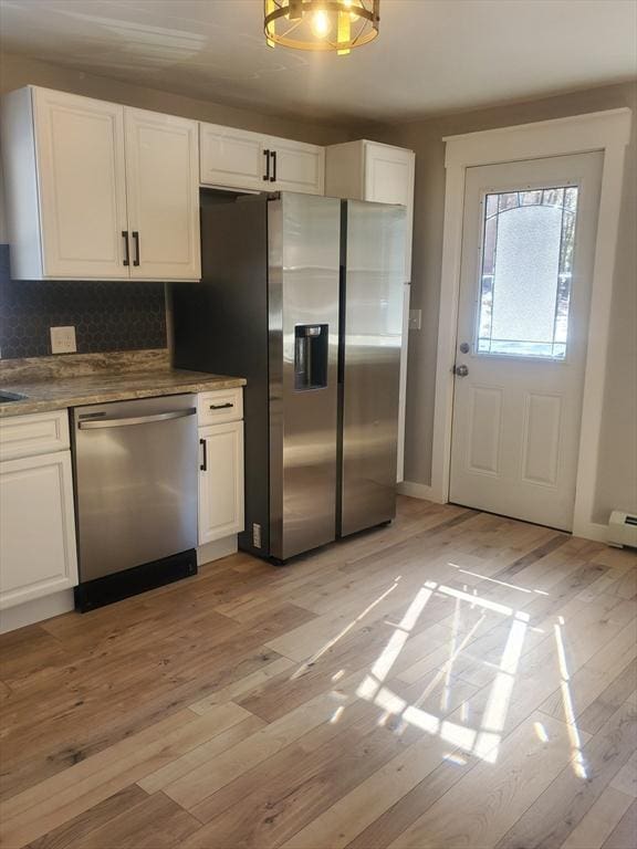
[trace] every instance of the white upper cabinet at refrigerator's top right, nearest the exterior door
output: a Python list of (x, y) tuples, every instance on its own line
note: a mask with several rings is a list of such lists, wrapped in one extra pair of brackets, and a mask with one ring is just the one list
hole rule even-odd
[(415, 154), (377, 142), (346, 142), (326, 148), (325, 195), (407, 208), (405, 282), (411, 280)]

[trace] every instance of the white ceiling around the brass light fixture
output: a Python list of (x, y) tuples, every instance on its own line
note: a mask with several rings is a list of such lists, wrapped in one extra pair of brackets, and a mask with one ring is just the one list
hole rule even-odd
[(176, 94), (409, 120), (637, 75), (634, 0), (382, 0), (348, 56), (267, 48), (261, 0), (0, 0), (3, 50)]

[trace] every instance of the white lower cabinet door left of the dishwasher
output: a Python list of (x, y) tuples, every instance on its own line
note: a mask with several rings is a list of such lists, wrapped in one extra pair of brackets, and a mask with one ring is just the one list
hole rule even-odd
[(0, 607), (76, 584), (71, 453), (0, 463)]

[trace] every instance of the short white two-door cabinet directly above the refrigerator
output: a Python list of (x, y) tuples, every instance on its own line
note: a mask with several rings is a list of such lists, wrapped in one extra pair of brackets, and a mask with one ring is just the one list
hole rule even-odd
[(199, 149), (205, 186), (323, 193), (325, 150), (317, 145), (201, 124)]

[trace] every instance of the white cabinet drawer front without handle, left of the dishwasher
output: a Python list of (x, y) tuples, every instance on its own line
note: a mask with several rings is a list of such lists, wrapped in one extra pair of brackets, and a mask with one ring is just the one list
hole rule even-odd
[(69, 444), (67, 410), (0, 419), (0, 460), (63, 451)]

